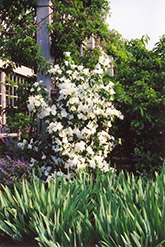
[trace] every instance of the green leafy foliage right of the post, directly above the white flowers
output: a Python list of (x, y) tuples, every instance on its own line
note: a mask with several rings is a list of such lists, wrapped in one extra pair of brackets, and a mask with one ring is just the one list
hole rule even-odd
[[(76, 62), (80, 61), (80, 46), (92, 35), (104, 39), (108, 34), (105, 18), (109, 11), (107, 0), (52, 0), (53, 23), (49, 25), (52, 39), (52, 56), (55, 62), (63, 59), (63, 52), (72, 52)], [(95, 50), (96, 57), (99, 51)], [(89, 56), (89, 52), (84, 55)], [(83, 59), (81, 62), (85, 62)], [(92, 62), (95, 62), (92, 60)]]

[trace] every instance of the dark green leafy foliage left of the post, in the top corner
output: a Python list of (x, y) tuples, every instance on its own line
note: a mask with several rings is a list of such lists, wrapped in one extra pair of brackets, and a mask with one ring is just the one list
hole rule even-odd
[(34, 1), (0, 1), (0, 58), (36, 67), (42, 61), (36, 44)]

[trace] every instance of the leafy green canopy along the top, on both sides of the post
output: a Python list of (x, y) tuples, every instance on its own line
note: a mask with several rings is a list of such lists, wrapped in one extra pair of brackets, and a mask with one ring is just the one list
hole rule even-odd
[[(36, 44), (36, 3), (34, 0), (0, 2), (0, 58), (13, 61), (16, 66), (36, 68), (44, 64)], [(52, 0), (51, 8), (53, 22), (48, 28), (55, 62), (63, 59), (65, 51), (71, 51), (78, 62), (80, 46), (86, 38), (94, 35), (103, 39), (107, 34), (104, 21), (109, 11), (108, 0)], [(95, 53), (97, 58), (99, 51), (96, 49)], [(96, 63), (95, 59), (93, 62)]]

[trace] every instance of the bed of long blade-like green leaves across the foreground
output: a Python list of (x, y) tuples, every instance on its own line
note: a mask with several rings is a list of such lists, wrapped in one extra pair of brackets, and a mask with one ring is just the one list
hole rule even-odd
[(2, 186), (0, 236), (15, 246), (29, 246), (31, 239), (36, 247), (162, 247), (164, 178), (164, 169), (148, 181), (98, 171), (72, 182), (33, 177), (12, 191)]

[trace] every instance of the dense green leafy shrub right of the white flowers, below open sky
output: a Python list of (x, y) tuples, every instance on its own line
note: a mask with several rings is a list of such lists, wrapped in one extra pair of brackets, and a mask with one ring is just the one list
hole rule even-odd
[(151, 51), (146, 42), (145, 37), (127, 41), (120, 46), (121, 53), (115, 51), (116, 105), (124, 120), (117, 123), (116, 134), (122, 136), (123, 145), (113, 159), (117, 162), (115, 156), (120, 156), (122, 168), (153, 174), (160, 170), (165, 155), (165, 36)]

